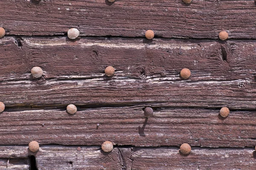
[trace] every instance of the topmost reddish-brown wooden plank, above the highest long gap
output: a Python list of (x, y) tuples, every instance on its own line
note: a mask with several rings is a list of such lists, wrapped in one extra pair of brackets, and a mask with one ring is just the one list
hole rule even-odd
[(0, 26), (9, 35), (63, 35), (78, 28), (81, 36), (156, 36), (217, 39), (256, 38), (253, 0), (1, 0)]

